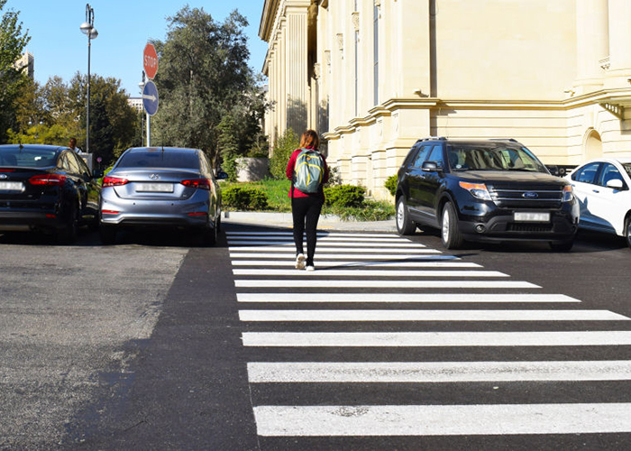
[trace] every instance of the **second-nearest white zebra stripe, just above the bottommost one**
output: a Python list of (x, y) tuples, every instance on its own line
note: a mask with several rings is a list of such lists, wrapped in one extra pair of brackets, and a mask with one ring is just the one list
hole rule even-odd
[(631, 361), (257, 362), (252, 383), (629, 381)]

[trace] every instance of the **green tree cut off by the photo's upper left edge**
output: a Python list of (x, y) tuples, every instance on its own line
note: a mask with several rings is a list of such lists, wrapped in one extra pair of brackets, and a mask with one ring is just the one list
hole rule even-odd
[[(6, 0), (0, 0), (0, 11)], [(21, 68), (15, 67), (26, 44), (31, 39), (22, 32), (22, 23), (18, 22), (19, 13), (9, 10), (0, 21), (0, 143), (5, 143), (6, 132), (15, 120), (15, 99), (27, 77)]]

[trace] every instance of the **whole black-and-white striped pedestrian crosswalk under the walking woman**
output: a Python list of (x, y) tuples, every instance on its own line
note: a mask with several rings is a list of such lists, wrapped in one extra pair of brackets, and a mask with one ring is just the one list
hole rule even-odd
[[(261, 437), (631, 433), (628, 402), (542, 402), (527, 392), (515, 403), (463, 401), (450, 389), (431, 401), (387, 402), (379, 394), (432, 384), (631, 381), (631, 360), (590, 354), (631, 345), (623, 315), (398, 235), (320, 232), (315, 272), (293, 268), (290, 232), (226, 235), (248, 380), (269, 389), (252, 399)], [(569, 358), (558, 349), (586, 352)], [(427, 358), (430, 350), (442, 354)], [(275, 386), (288, 394), (275, 398)], [(303, 394), (312, 387), (322, 399)]]

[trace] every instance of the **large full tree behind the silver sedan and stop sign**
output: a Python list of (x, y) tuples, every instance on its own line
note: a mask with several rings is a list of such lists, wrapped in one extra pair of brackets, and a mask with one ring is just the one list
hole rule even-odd
[(202, 149), (215, 168), (222, 146), (226, 155), (248, 151), (261, 133), (265, 106), (247, 65), (247, 24), (237, 11), (216, 23), (203, 8), (188, 6), (169, 18), (167, 40), (155, 42), (160, 59), (155, 143)]

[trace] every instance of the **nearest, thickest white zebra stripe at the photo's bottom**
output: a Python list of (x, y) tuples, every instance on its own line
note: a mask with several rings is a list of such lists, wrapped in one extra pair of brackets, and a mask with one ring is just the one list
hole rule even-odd
[(264, 437), (461, 436), (631, 432), (631, 403), (258, 406)]

